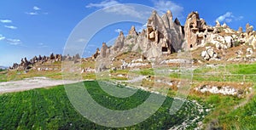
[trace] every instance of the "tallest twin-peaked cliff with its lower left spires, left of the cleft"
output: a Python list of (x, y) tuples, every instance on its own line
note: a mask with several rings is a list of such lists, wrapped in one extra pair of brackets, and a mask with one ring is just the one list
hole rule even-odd
[[(103, 54), (99, 58), (134, 51), (142, 53), (148, 59), (154, 59), (163, 54), (172, 54), (182, 49), (183, 37), (183, 27), (177, 19), (173, 21), (171, 11), (167, 11), (161, 17), (156, 11), (153, 11), (148, 18), (146, 30), (138, 33), (135, 27), (132, 26), (126, 37), (120, 31), (113, 47), (108, 47), (105, 43), (102, 44), (101, 53)], [(105, 52), (107, 52), (107, 55)]]

